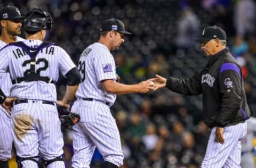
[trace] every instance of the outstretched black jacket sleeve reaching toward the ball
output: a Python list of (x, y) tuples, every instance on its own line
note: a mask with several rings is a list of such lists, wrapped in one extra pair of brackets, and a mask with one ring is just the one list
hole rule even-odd
[(183, 95), (199, 95), (202, 93), (201, 75), (194, 75), (192, 78), (173, 78), (166, 81), (166, 87), (175, 93)]

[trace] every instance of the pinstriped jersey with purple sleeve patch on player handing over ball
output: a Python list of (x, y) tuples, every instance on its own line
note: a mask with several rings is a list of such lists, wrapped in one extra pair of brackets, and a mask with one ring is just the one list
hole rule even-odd
[(76, 92), (77, 97), (93, 98), (114, 104), (116, 94), (109, 94), (102, 86), (102, 80), (116, 81), (116, 65), (107, 46), (93, 43), (87, 47), (78, 62), (82, 82)]

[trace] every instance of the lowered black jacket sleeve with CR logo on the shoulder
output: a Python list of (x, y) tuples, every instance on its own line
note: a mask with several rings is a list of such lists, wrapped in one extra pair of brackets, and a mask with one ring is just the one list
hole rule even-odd
[[(234, 66), (236, 66), (234, 64)], [(234, 70), (219, 74), (221, 108), (217, 118), (217, 126), (225, 127), (236, 116), (242, 104), (241, 74)]]

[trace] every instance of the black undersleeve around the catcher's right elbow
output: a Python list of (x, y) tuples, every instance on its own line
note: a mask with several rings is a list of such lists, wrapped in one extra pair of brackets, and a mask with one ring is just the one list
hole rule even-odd
[(67, 78), (68, 86), (75, 86), (81, 82), (81, 75), (76, 67), (68, 71), (65, 77)]

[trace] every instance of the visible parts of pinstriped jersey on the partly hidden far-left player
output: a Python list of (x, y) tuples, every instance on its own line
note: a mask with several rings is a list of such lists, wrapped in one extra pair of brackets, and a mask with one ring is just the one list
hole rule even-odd
[[(25, 39), (16, 36), (17, 41), (24, 41)], [(0, 40), (0, 49), (6, 46), (6, 43), (4, 41)], [(0, 77), (0, 88), (3, 90), (4, 94), (6, 96), (10, 96), (10, 89), (12, 87), (12, 81), (10, 77), (10, 73), (5, 72), (2, 77)]]

